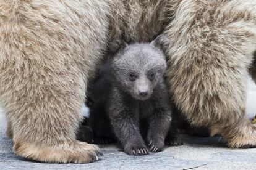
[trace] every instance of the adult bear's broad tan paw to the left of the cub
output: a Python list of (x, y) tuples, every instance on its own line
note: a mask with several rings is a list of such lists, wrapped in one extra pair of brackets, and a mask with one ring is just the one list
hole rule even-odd
[(14, 152), (24, 158), (45, 163), (90, 163), (103, 155), (96, 145), (79, 141), (55, 145), (14, 141)]

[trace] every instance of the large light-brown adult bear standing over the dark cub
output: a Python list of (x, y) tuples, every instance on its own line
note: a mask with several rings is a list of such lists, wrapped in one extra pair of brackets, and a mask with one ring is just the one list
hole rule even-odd
[(255, 1), (0, 1), (0, 95), (14, 152), (44, 162), (88, 163), (98, 147), (75, 140), (88, 79), (109, 39), (168, 34), (169, 91), (195, 126), (231, 147), (254, 147), (245, 118), (256, 49)]

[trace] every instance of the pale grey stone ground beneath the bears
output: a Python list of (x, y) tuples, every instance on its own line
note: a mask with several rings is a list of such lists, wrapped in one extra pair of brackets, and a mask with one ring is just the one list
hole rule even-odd
[[(247, 115), (256, 114), (256, 86), (249, 80)], [(1, 110), (0, 110), (1, 112)], [(0, 114), (0, 169), (256, 169), (256, 148), (227, 148), (221, 137), (184, 136), (185, 144), (163, 152), (128, 156), (119, 145), (100, 145), (104, 156), (89, 164), (37, 163), (12, 152), (5, 135), (6, 121)]]

